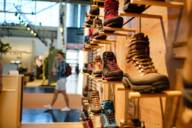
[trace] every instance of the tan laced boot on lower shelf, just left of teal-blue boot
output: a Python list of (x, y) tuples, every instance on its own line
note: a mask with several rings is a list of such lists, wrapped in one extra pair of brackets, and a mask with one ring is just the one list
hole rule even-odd
[(100, 113), (101, 111), (99, 92), (97, 90), (91, 91), (90, 108), (93, 113)]

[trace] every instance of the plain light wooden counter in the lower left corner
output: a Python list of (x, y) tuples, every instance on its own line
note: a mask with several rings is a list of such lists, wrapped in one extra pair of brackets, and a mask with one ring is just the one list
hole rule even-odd
[(19, 128), (21, 123), (22, 76), (3, 76), (0, 93), (0, 128)]

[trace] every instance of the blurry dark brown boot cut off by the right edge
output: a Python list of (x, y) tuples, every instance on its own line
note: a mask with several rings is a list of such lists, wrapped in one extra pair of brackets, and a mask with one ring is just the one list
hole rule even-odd
[(192, 83), (183, 80), (183, 102), (186, 107), (192, 109)]

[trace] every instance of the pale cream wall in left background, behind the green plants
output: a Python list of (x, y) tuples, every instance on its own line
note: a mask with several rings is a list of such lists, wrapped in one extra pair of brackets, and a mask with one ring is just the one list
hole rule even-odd
[(34, 57), (48, 55), (48, 47), (36, 38), (4, 37), (1, 40), (12, 47), (11, 52), (3, 56), (4, 64), (10, 63), (11, 60), (21, 60), (22, 66), (32, 71)]

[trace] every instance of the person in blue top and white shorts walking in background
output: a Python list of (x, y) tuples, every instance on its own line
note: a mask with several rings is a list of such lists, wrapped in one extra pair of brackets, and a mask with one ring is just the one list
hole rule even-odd
[(55, 92), (53, 95), (53, 99), (51, 101), (51, 104), (45, 105), (46, 108), (52, 109), (53, 105), (55, 104), (58, 94), (61, 93), (64, 97), (64, 101), (66, 103), (66, 107), (62, 108), (62, 111), (70, 111), (69, 108), (69, 98), (66, 93), (66, 63), (64, 60), (64, 53), (62, 51), (58, 51), (56, 53), (56, 60), (57, 60), (57, 66), (56, 68), (53, 68), (53, 74), (57, 76), (57, 84), (55, 88)]

